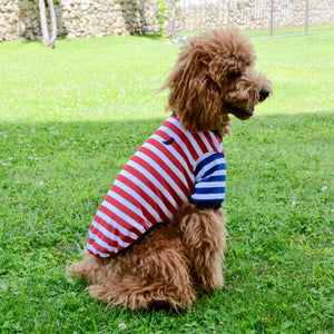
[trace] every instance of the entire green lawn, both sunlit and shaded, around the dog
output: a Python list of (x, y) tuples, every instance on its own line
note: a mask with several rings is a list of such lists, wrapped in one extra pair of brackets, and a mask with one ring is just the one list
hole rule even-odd
[(111, 181), (166, 117), (155, 90), (178, 47), (0, 43), (1, 333), (332, 333), (333, 39), (253, 40), (275, 95), (225, 139), (226, 285), (188, 313), (106, 310), (66, 276)]

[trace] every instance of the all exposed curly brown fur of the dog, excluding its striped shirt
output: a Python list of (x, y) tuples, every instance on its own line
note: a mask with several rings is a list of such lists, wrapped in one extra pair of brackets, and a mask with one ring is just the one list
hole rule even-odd
[[(236, 31), (213, 31), (181, 49), (164, 88), (168, 109), (186, 130), (230, 132), (229, 114), (248, 119), (272, 94), (271, 82), (254, 69), (248, 40)], [(185, 204), (174, 223), (158, 225), (138, 242), (109, 258), (88, 253), (69, 268), (88, 281), (90, 294), (132, 310), (154, 305), (189, 308), (197, 288), (224, 283), (225, 214)]]

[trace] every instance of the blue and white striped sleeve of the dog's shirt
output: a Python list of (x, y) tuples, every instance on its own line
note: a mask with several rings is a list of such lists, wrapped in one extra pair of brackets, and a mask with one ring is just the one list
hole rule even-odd
[(208, 153), (195, 166), (195, 189), (190, 202), (200, 208), (218, 208), (225, 199), (226, 159)]

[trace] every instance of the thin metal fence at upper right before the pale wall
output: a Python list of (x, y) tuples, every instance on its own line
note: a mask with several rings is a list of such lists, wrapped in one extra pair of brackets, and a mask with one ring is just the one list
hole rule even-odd
[(238, 28), (249, 37), (334, 31), (333, 0), (167, 0), (167, 35)]

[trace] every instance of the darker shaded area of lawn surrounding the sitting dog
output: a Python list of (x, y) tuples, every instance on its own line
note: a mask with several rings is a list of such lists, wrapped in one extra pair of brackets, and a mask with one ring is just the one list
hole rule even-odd
[(65, 275), (112, 180), (163, 119), (0, 124), (2, 328), (237, 333), (279, 332), (287, 322), (326, 332), (333, 116), (234, 121), (226, 287), (199, 295), (186, 314), (106, 311)]

